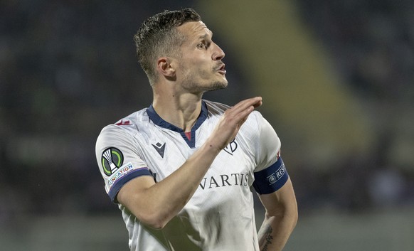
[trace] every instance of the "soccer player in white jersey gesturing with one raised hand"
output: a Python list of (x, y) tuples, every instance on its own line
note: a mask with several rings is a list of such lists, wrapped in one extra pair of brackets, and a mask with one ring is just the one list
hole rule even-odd
[[(225, 88), (224, 53), (193, 9), (163, 11), (134, 36), (152, 105), (100, 132), (97, 162), (134, 251), (282, 250), (297, 222), (280, 139), (255, 110), (203, 100)], [(255, 188), (266, 215), (257, 233)]]

